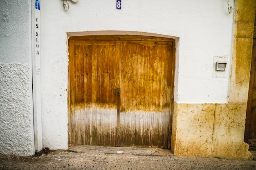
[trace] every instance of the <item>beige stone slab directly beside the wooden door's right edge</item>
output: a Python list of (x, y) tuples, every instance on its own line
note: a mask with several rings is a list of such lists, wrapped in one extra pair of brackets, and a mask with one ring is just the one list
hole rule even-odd
[(215, 104), (177, 104), (176, 108), (174, 154), (211, 156)]

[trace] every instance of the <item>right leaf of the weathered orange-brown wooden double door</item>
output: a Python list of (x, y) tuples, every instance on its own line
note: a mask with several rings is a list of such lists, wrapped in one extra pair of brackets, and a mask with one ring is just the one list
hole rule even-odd
[(122, 41), (120, 146), (167, 147), (172, 42)]

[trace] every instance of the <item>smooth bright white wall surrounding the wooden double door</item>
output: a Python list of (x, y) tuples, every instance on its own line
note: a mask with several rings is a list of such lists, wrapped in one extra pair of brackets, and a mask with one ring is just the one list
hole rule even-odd
[[(226, 0), (122, 0), (121, 10), (116, 9), (116, 0), (80, 0), (69, 1), (68, 11), (62, 2), (40, 4), (44, 147), (67, 148), (67, 33), (137, 31), (173, 36), (175, 101), (228, 101), (234, 13), (228, 13)], [(233, 0), (229, 4), (234, 7)], [(227, 78), (213, 78), (214, 56), (228, 57)]]

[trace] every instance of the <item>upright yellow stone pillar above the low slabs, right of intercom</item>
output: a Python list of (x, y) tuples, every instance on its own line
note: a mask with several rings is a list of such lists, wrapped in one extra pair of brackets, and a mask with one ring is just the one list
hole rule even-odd
[(236, 0), (229, 103), (247, 103), (256, 0)]

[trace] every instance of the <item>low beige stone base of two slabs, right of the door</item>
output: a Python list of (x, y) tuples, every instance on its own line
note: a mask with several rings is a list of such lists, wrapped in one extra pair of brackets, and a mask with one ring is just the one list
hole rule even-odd
[(171, 149), (175, 155), (250, 159), (244, 139), (245, 103), (177, 104)]

